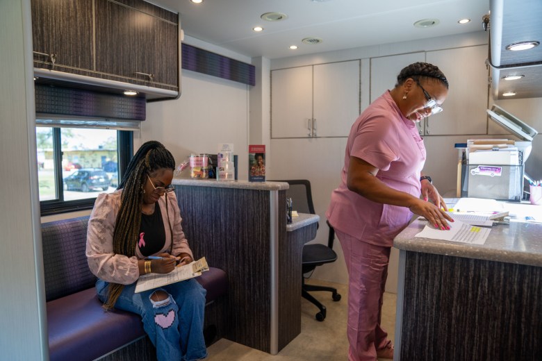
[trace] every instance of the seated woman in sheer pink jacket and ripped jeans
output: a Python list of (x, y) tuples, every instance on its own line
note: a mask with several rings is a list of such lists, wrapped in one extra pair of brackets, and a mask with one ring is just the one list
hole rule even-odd
[[(155, 141), (142, 144), (111, 194), (99, 194), (88, 222), (86, 255), (104, 308), (140, 314), (162, 360), (206, 358), (206, 290), (194, 278), (134, 293), (143, 274), (167, 274), (193, 255), (171, 182), (175, 160)], [(151, 259), (158, 256), (161, 259)]]

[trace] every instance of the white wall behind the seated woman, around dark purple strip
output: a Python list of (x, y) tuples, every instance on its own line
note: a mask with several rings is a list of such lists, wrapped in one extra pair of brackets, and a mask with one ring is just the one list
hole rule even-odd
[[(186, 43), (249, 62), (247, 58), (186, 37)], [(134, 134), (134, 150), (158, 140), (179, 165), (190, 153), (217, 153), (217, 144), (233, 143), (238, 178), (248, 178), (249, 85), (183, 70), (179, 99), (147, 103), (147, 119)], [(190, 177), (190, 171), (183, 172)]]

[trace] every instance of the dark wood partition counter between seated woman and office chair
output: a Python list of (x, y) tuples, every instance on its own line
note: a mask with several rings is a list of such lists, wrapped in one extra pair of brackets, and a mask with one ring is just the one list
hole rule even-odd
[(196, 257), (226, 271), (227, 334), (278, 353), (301, 331), (302, 248), (318, 215), (286, 224), (288, 183), (174, 179), (183, 230)]

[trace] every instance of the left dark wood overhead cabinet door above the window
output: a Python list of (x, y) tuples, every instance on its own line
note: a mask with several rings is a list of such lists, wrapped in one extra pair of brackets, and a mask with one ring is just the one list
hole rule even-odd
[[(56, 53), (56, 65), (92, 69), (92, 1), (32, 0), (33, 50)], [(34, 66), (51, 69), (46, 56), (34, 55)]]

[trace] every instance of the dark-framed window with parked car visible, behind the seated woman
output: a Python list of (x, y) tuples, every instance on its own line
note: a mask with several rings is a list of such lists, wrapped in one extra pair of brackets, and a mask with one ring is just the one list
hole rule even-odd
[(38, 126), (36, 147), (41, 213), (53, 215), (91, 209), (98, 194), (115, 191), (131, 158), (132, 133)]

